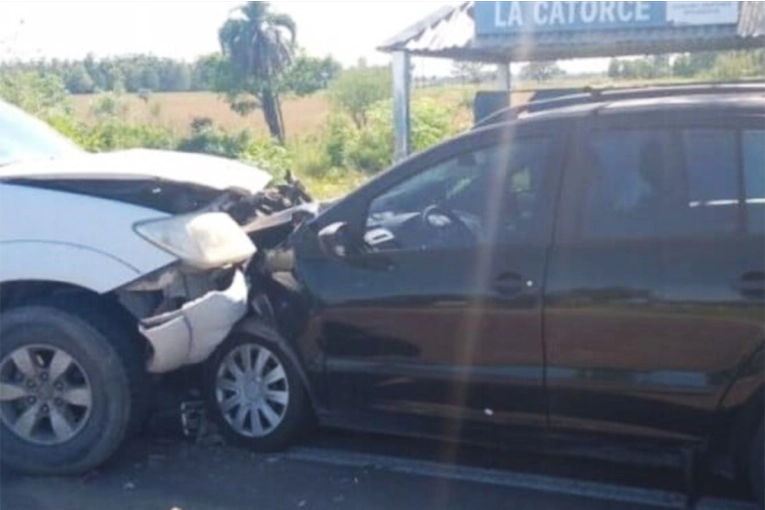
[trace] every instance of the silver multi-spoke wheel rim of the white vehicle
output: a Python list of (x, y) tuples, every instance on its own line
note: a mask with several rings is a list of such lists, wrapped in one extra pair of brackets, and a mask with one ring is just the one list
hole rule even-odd
[(0, 361), (0, 419), (21, 439), (45, 445), (69, 441), (92, 407), (88, 376), (63, 349), (28, 345)]

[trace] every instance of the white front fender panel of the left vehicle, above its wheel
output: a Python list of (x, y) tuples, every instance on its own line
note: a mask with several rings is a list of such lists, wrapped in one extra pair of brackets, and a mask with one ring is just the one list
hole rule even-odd
[(0, 282), (48, 280), (98, 293), (177, 259), (140, 237), (139, 221), (169, 215), (86, 195), (0, 184)]

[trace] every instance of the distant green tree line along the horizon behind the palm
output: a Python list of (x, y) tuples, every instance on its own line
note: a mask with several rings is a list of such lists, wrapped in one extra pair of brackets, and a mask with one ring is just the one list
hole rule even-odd
[[(225, 74), (219, 54), (183, 62), (152, 55), (82, 60), (42, 59), (0, 63), (0, 74), (37, 72), (61, 79), (71, 94), (95, 92), (188, 92), (225, 88), (218, 81)], [(327, 86), (342, 70), (332, 57), (317, 58), (299, 53), (285, 70), (282, 86), (287, 92), (311, 94)]]

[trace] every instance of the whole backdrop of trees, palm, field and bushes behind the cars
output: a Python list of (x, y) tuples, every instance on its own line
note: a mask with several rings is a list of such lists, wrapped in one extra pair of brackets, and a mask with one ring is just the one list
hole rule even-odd
[[(194, 63), (153, 56), (0, 64), (0, 97), (90, 151), (146, 147), (291, 170), (319, 198), (358, 186), (393, 155), (390, 70), (360, 61), (342, 69), (297, 45), (299, 31), (268, 0), (248, 0), (219, 30), (221, 52)], [(425, 149), (467, 129), (475, 91), (491, 87), (481, 64), (420, 79), (412, 143)], [(762, 77), (765, 50), (613, 59), (607, 73), (566, 76), (555, 62), (520, 72), (514, 104), (532, 89), (651, 81)], [(182, 172), (183, 169), (179, 169)]]

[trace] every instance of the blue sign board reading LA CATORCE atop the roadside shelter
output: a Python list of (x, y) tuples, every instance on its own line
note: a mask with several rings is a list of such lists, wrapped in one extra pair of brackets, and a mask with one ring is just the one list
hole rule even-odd
[(739, 0), (476, 0), (476, 35), (725, 25)]

